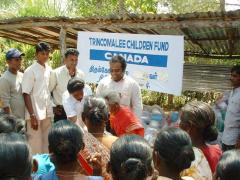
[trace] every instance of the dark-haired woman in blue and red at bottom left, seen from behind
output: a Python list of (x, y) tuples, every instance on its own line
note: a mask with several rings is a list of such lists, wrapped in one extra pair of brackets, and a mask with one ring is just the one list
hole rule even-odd
[[(49, 132), (48, 141), (50, 159), (55, 165), (55, 170), (36, 176), (34, 179), (103, 179), (102, 177), (88, 176), (88, 163), (78, 161), (79, 152), (84, 148), (84, 142), (82, 130), (76, 124), (66, 120), (56, 122)], [(95, 156), (90, 161), (93, 173), (101, 175), (100, 157)]]

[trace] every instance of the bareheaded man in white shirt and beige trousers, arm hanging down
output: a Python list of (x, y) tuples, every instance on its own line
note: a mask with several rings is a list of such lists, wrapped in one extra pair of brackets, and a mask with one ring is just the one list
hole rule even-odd
[(49, 91), (51, 67), (46, 64), (50, 46), (36, 45), (36, 62), (23, 74), (22, 92), (26, 106), (27, 132), (32, 153), (48, 152), (48, 132), (51, 127), (52, 102)]

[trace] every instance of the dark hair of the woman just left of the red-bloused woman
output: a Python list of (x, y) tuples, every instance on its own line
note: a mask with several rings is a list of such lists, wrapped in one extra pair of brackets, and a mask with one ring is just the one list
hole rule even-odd
[(179, 173), (191, 166), (195, 159), (189, 135), (179, 128), (163, 129), (157, 135), (154, 150), (169, 170)]

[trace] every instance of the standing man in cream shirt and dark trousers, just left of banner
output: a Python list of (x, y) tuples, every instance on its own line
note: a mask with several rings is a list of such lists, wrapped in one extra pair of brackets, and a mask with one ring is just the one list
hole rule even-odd
[(53, 93), (54, 122), (67, 118), (62, 105), (62, 95), (67, 90), (68, 81), (72, 77), (81, 79), (84, 77), (84, 73), (77, 69), (78, 55), (77, 49), (67, 49), (65, 52), (65, 65), (53, 70), (51, 73), (50, 91)]

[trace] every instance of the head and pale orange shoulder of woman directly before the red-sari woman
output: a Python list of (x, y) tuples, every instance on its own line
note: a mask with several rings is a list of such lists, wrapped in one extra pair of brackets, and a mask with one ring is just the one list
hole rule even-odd
[(82, 119), (88, 128), (88, 132), (110, 149), (117, 137), (105, 131), (106, 122), (108, 121), (108, 108), (105, 100), (96, 97), (86, 98), (83, 105)]

